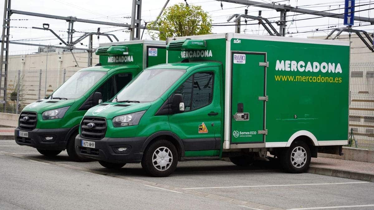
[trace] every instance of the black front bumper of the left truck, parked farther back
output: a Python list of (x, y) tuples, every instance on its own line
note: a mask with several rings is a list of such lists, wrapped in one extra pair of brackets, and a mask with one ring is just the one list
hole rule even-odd
[[(20, 137), (19, 131), (28, 132), (28, 138)], [(18, 145), (32, 146), (37, 149), (64, 150), (67, 144), (67, 135), (70, 128), (60, 129), (34, 129), (31, 131), (20, 130), (18, 127), (14, 130), (14, 136)], [(52, 140), (45, 140), (44, 137), (52, 136)]]

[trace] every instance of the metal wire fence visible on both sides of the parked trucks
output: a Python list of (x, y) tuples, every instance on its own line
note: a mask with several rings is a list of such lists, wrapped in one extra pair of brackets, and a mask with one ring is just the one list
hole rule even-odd
[[(49, 96), (81, 68), (9, 71), (8, 100), (0, 112), (17, 114), (27, 104)], [(374, 62), (351, 64), (349, 99), (350, 146), (374, 149)]]

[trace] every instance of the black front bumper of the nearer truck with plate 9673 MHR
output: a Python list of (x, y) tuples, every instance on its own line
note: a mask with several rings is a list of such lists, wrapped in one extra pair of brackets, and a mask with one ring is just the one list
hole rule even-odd
[[(140, 163), (143, 157), (143, 146), (146, 137), (134, 138), (103, 138), (101, 140), (86, 139), (80, 135), (75, 138), (78, 155), (110, 163)], [(95, 142), (95, 148), (82, 146), (82, 140)], [(126, 152), (115, 151), (117, 147), (127, 147)]]

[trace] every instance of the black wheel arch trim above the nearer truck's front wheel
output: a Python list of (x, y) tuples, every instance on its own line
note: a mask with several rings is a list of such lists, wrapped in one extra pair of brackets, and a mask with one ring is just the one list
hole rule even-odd
[(150, 143), (156, 141), (157, 139), (165, 139), (170, 141), (174, 144), (175, 148), (177, 148), (179, 160), (181, 160), (181, 158), (184, 157), (184, 144), (182, 142), (182, 139), (180, 139), (179, 136), (170, 131), (159, 131), (153, 133), (151, 136), (145, 139), (141, 147), (141, 151), (144, 152), (147, 146), (150, 145)]

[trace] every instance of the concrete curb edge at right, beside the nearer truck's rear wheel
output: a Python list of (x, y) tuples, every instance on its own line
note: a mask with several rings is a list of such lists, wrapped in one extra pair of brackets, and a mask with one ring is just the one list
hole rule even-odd
[(374, 182), (374, 174), (310, 166), (308, 173)]

